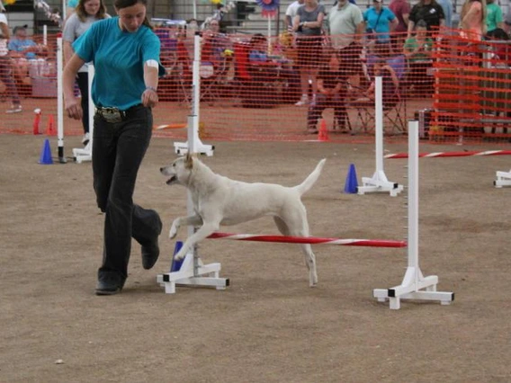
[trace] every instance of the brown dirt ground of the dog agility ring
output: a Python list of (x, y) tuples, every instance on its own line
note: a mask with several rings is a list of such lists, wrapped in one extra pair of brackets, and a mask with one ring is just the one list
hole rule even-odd
[[(79, 140), (66, 140), (67, 156)], [(158, 172), (175, 158), (166, 138), (153, 139), (135, 195), (165, 221), (160, 259), (144, 271), (134, 243), (125, 289), (96, 297), (103, 216), (91, 165), (38, 165), (42, 143), (0, 135), (0, 381), (511, 382), (511, 223), (504, 209), (511, 190), (493, 187), (495, 172), (510, 168), (507, 156), (420, 160), (421, 270), (438, 275), (438, 289), (456, 298), (450, 306), (403, 301), (390, 310), (372, 289), (399, 285), (406, 249), (316, 245), (319, 283), (310, 289), (297, 245), (206, 240), (202, 259), (222, 264), (229, 288), (165, 294), (156, 279), (168, 271), (175, 245), (166, 233), (186, 210), (184, 189), (166, 186)], [(294, 185), (327, 157), (304, 197), (315, 236), (406, 236), (405, 193), (343, 192), (351, 163), (359, 183), (374, 172), (372, 145), (213, 144), (215, 155), (202, 160), (249, 182)], [(51, 147), (55, 154), (56, 139)], [(474, 147), (421, 145), (464, 149)], [(384, 165), (390, 181), (406, 184), (406, 160)], [(271, 218), (224, 228), (277, 232)]]

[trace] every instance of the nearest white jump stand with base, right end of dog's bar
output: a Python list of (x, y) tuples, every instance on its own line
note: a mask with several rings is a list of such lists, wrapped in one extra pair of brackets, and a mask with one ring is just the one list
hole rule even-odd
[[(400, 299), (440, 301), (449, 305), (453, 292), (436, 291), (438, 277), (424, 277), (418, 263), (418, 121), (408, 122), (408, 267), (402, 283), (390, 289), (374, 289), (380, 302), (390, 301), (391, 309), (399, 309)], [(426, 290), (425, 290), (426, 289)]]

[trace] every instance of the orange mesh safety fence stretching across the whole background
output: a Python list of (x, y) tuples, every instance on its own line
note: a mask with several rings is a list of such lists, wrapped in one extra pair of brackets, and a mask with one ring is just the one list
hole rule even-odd
[[(185, 140), (181, 127), (192, 106), (193, 36), (171, 29), (157, 29), (157, 35), (166, 76), (158, 85), (154, 134)], [(452, 31), (426, 40), (398, 33), (307, 39), (288, 32), (270, 37), (205, 32), (202, 37), (202, 139), (316, 140), (323, 127), (331, 141), (373, 142), (372, 84), (378, 74), (387, 140), (405, 140), (412, 118), (422, 121), (421, 138), (431, 142), (507, 138), (501, 122), (510, 115), (502, 98), (511, 97), (507, 64), (497, 55), (481, 58), (481, 44), (469, 44)], [(32, 134), (36, 109), (41, 133), (57, 120), (55, 41), (49, 36), (41, 67), (29, 66), (28, 84), (16, 80), (22, 112), (4, 114), (11, 95), (0, 84), (1, 133)], [(81, 121), (64, 117), (64, 133), (83, 134)]]

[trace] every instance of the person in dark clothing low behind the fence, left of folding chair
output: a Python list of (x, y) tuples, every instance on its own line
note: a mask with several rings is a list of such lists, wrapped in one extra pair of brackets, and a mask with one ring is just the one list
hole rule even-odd
[(307, 132), (318, 133), (318, 119), (327, 108), (334, 108), (336, 127), (341, 133), (346, 133), (345, 123), (348, 119), (345, 98), (347, 88), (347, 76), (342, 70), (336, 51), (329, 55), (326, 65), (319, 68), (318, 72), (318, 95), (316, 102), (310, 104), (307, 114)]

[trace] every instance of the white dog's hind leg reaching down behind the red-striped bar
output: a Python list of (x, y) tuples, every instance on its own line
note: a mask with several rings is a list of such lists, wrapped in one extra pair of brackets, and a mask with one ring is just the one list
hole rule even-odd
[[(309, 236), (309, 223), (307, 221), (307, 212), (305, 207), (302, 205), (300, 209), (293, 209), (290, 214), (286, 214), (285, 217), (279, 218), (280, 222), (276, 219), (275, 223), (279, 230), (285, 227), (286, 232), (281, 233), (284, 236)], [(316, 270), (316, 255), (312, 252), (312, 247), (309, 244), (303, 244), (301, 251), (305, 255), (305, 265), (309, 269), (309, 286), (314, 287), (318, 284), (318, 272)]]

